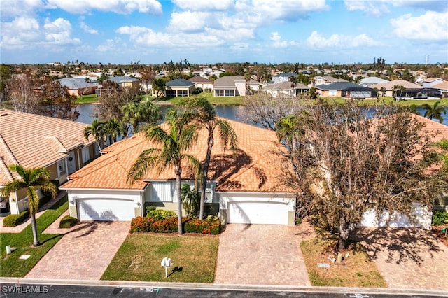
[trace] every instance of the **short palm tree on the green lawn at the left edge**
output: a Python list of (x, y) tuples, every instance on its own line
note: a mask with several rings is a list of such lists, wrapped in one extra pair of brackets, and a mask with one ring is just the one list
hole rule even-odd
[(41, 243), (38, 241), (37, 226), (36, 226), (36, 213), (39, 206), (39, 197), (36, 192), (36, 188), (41, 188), (44, 192), (49, 192), (54, 199), (57, 193), (57, 187), (50, 182), (50, 172), (45, 168), (24, 169), (19, 164), (13, 164), (9, 166), (10, 171), (18, 173), (20, 178), (14, 179), (3, 187), (2, 195), (9, 197), (11, 192), (27, 189), (27, 196), (29, 202), (29, 215), (31, 216), (31, 229), (33, 230), (33, 244), (39, 246)]

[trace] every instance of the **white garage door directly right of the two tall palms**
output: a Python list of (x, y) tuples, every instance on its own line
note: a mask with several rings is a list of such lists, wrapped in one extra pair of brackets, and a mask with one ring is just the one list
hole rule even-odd
[(229, 201), (229, 223), (288, 225), (288, 204), (274, 201)]

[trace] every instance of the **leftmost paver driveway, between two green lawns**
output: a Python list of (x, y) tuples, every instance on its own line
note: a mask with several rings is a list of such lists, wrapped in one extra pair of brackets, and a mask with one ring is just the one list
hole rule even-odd
[(99, 280), (130, 229), (130, 222), (82, 222), (67, 232), (55, 224), (44, 233), (66, 234), (27, 278)]

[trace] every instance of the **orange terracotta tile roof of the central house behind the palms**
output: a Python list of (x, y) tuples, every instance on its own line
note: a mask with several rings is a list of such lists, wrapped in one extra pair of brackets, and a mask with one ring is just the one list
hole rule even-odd
[[(227, 120), (227, 119), (226, 119)], [(215, 137), (215, 145), (212, 151), (209, 168), (209, 180), (219, 181), (217, 191), (237, 192), (290, 192), (292, 190), (283, 187), (281, 174), (283, 165), (287, 165), (286, 158), (279, 152), (284, 152), (278, 143), (275, 133), (247, 125), (245, 123), (228, 120), (237, 133), (239, 150), (232, 152), (222, 148), (221, 140)], [(206, 132), (200, 132), (198, 142), (189, 150), (200, 161), (205, 159)], [(144, 181), (148, 180), (174, 180), (173, 169), (167, 169), (159, 173), (157, 169), (150, 169), (146, 176), (130, 185), (126, 181), (127, 171), (145, 149), (154, 148), (141, 134), (132, 136), (114, 143), (104, 151), (106, 155), (95, 159), (93, 162), (73, 173), (65, 188), (92, 188), (92, 189), (143, 189)], [(193, 180), (193, 173), (188, 166), (183, 166), (183, 180)]]

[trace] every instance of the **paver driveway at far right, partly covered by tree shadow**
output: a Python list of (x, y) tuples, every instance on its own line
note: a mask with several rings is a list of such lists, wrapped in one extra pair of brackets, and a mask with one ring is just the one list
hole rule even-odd
[(448, 290), (448, 248), (423, 229), (363, 228), (356, 237), (389, 288)]

